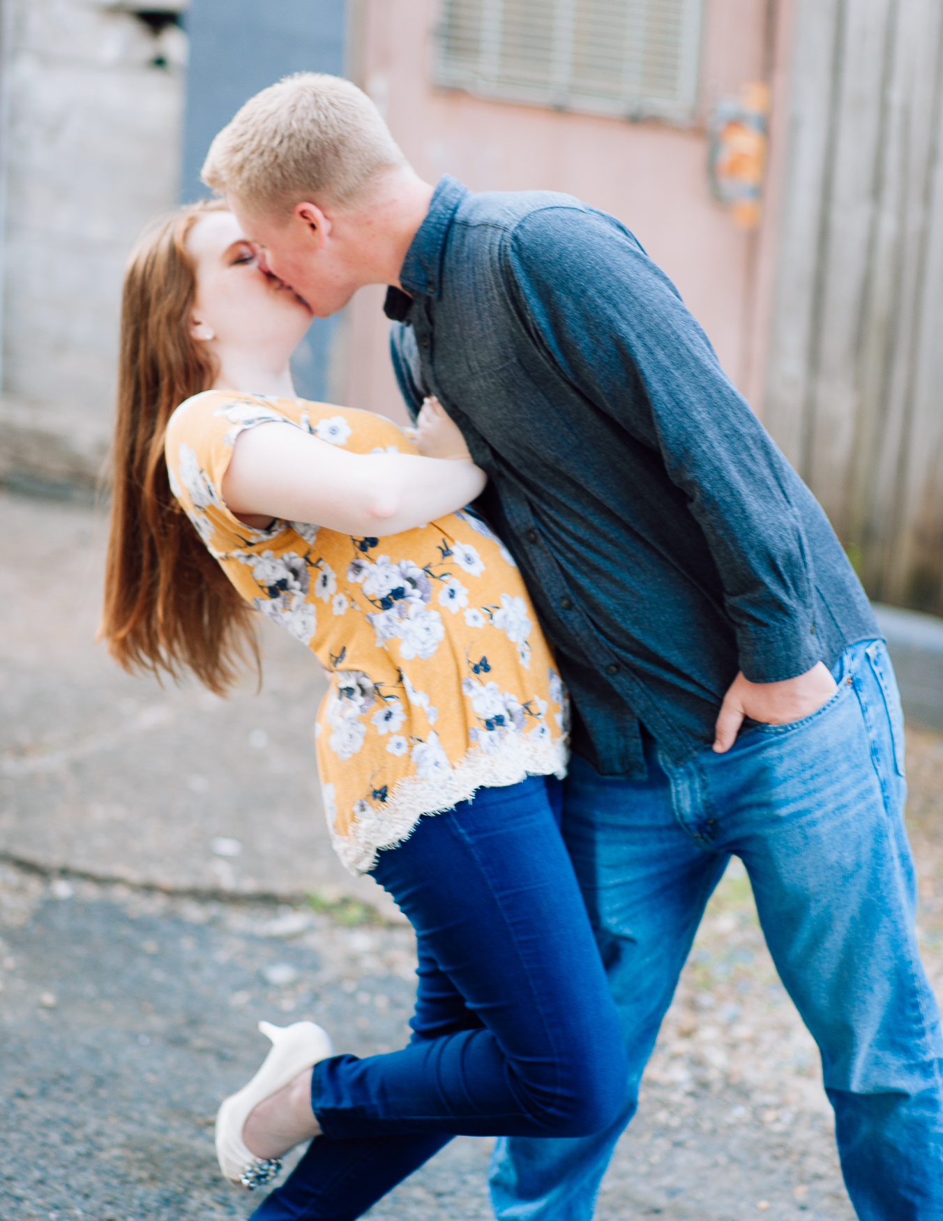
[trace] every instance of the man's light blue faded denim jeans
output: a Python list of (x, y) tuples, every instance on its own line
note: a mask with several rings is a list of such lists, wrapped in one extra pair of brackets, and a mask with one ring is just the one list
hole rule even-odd
[(861, 1221), (943, 1217), (943, 1040), (914, 932), (903, 716), (881, 641), (849, 648), (838, 690), (789, 725), (683, 767), (649, 739), (645, 780), (575, 759), (564, 834), (628, 1048), (622, 1114), (581, 1139), (504, 1138), (500, 1221), (588, 1221), (704, 906), (731, 855), (822, 1056)]

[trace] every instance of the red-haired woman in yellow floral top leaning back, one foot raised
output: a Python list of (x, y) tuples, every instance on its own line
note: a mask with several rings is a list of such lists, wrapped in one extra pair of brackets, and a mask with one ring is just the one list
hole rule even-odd
[(274, 1046), (217, 1118), (223, 1173), (254, 1187), (318, 1137), (266, 1221), (360, 1216), (456, 1133), (599, 1131), (625, 1079), (558, 829), (565, 696), (512, 559), (461, 508), (486, 477), (432, 402), (414, 444), (296, 399), (310, 321), (221, 203), (142, 241), (104, 620), (127, 668), (215, 691), (255, 652), (253, 609), (307, 645), (332, 672), (317, 751), (334, 847), (416, 929), (405, 1049), (357, 1060), (311, 1022), (261, 1023)]

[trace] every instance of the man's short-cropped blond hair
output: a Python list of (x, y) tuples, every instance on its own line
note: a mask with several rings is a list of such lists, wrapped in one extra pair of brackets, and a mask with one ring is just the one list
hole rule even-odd
[(354, 204), (378, 173), (405, 164), (355, 84), (295, 72), (246, 101), (210, 145), (201, 176), (255, 216), (287, 217), (303, 200)]

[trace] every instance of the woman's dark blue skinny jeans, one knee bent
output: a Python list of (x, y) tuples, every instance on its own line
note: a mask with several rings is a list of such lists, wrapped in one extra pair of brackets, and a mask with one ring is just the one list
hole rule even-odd
[(412, 1039), (315, 1066), (323, 1136), (255, 1221), (357, 1217), (451, 1136), (581, 1137), (614, 1122), (626, 1053), (559, 817), (559, 781), (532, 777), (381, 852), (373, 875), (418, 940)]

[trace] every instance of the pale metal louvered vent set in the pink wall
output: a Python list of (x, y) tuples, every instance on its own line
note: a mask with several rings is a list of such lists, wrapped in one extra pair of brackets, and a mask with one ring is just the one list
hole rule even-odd
[(437, 84), (690, 122), (703, 0), (442, 0)]

